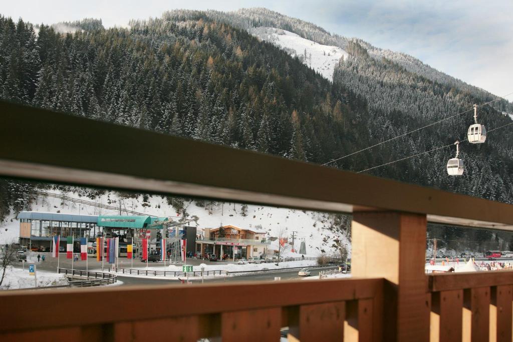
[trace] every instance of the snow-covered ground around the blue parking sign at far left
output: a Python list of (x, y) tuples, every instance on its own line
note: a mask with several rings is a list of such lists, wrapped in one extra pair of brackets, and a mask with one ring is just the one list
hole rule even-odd
[[(36, 271), (37, 287), (67, 285), (68, 280), (64, 274)], [(28, 266), (25, 270), (9, 267), (0, 290), (26, 289), (35, 287), (34, 276), (29, 275)]]

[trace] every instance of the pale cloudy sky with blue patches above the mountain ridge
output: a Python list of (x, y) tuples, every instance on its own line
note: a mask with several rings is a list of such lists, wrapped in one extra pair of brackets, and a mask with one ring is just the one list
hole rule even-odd
[(511, 0), (25, 0), (3, 1), (0, 13), (45, 24), (95, 17), (110, 27), (177, 8), (229, 11), (245, 7), (267, 7), (332, 33), (408, 53), (499, 96), (513, 92)]

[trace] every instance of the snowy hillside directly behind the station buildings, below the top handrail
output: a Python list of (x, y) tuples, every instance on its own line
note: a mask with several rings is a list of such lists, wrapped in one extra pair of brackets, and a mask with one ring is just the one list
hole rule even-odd
[[(45, 190), (50, 193), (61, 194), (58, 190)], [(90, 200), (86, 197), (79, 197), (77, 193), (66, 193), (73, 198)], [(167, 203), (167, 199), (161, 196), (148, 196), (147, 202), (144, 202), (142, 195), (136, 198), (122, 198), (121, 207), (126, 210), (133, 210), (148, 215), (159, 217), (177, 216), (176, 210)], [(94, 203), (109, 204), (119, 206), (120, 197), (115, 192), (109, 192), (94, 200)], [(306, 255), (317, 256), (322, 251), (331, 253), (337, 250), (333, 247), (334, 240), (340, 240), (340, 244), (345, 246), (350, 254), (351, 245), (344, 231), (331, 228), (334, 225), (333, 215), (328, 213), (318, 213), (312, 211), (303, 211), (287, 208), (274, 208), (264, 206), (247, 206), (247, 215), (242, 215), (241, 204), (216, 202), (213, 206), (206, 208), (199, 207), (196, 202), (185, 202), (187, 217), (197, 217), (196, 222), (189, 225), (196, 225), (199, 228), (216, 228), (222, 225), (233, 225), (246, 229), (260, 229), (267, 232), (267, 236), (288, 237), (291, 241), (292, 232), (295, 231), (295, 248), (299, 250), (301, 241), (306, 242)], [(80, 204), (61, 198), (37, 195), (32, 203), (32, 211), (40, 212), (61, 212), (69, 214), (83, 215), (107, 215), (119, 214), (119, 211), (101, 209), (92, 205)], [(122, 210), (122, 214), (126, 214)], [(14, 214), (9, 215), (4, 222), (0, 223), (0, 243), (6, 243), (16, 239), (19, 234), (19, 222)], [(276, 242), (274, 243), (277, 244)], [(271, 244), (272, 246), (272, 244)], [(289, 248), (290, 249), (290, 248)], [(288, 254), (288, 253), (287, 253)], [(295, 255), (298, 256), (298, 255)]]

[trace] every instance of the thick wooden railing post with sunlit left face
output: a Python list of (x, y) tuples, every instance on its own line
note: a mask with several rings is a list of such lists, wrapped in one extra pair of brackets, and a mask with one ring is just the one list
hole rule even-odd
[(429, 340), (424, 273), (426, 226), (426, 216), (420, 214), (353, 214), (353, 277), (386, 279), (383, 298), (373, 303), (374, 317), (380, 318), (373, 321), (373, 340)]

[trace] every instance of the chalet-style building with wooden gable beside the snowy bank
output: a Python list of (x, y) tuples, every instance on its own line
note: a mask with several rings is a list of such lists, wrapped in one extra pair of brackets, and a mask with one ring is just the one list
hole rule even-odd
[(239, 259), (265, 255), (269, 242), (266, 232), (258, 229), (243, 229), (235, 226), (205, 228), (204, 236), (196, 240), (196, 253), (215, 254), (221, 259)]

